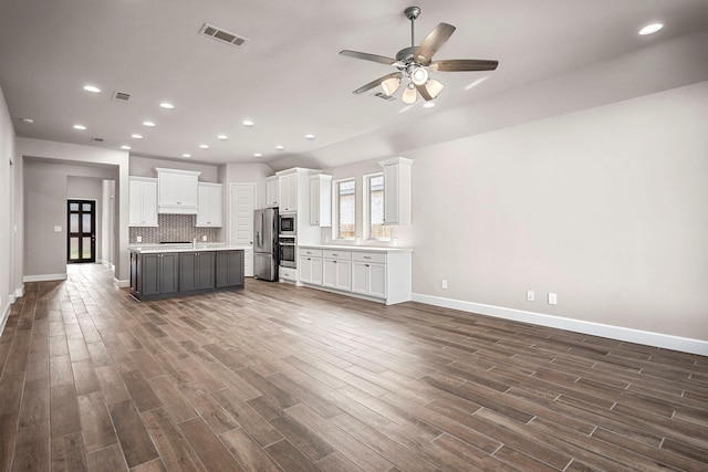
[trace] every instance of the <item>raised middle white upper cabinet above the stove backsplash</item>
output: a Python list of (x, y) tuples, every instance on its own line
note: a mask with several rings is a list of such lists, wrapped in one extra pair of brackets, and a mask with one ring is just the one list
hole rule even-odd
[(157, 211), (160, 213), (197, 214), (199, 209), (199, 175), (192, 170), (157, 171)]

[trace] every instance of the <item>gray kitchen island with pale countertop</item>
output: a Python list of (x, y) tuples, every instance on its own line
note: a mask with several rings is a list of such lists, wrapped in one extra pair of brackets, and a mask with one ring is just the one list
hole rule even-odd
[(131, 295), (147, 301), (242, 289), (247, 248), (219, 243), (129, 245)]

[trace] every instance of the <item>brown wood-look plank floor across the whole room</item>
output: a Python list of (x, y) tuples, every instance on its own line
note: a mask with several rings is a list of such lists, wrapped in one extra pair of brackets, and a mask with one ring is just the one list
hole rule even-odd
[(2, 471), (708, 470), (706, 357), (252, 280), (138, 303), (67, 270), (0, 338)]

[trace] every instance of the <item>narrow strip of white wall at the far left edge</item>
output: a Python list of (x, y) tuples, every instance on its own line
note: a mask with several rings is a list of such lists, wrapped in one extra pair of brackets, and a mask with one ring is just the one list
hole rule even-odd
[(14, 169), (17, 160), (14, 128), (8, 105), (0, 88), (0, 333), (7, 321), (10, 301), (14, 296), (14, 258), (12, 233), (14, 232), (13, 200)]

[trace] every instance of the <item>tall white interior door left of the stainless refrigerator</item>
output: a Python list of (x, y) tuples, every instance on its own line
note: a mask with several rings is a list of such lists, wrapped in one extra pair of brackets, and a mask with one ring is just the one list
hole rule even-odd
[(229, 200), (229, 242), (249, 247), (243, 251), (243, 275), (252, 277), (256, 183), (231, 183)]

